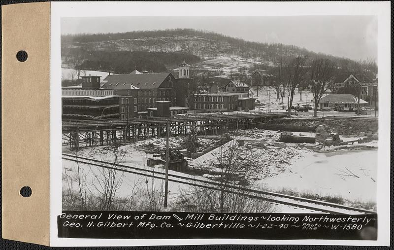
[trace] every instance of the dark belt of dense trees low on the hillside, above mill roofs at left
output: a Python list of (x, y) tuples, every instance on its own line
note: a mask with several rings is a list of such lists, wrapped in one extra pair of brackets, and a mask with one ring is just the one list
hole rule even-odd
[(147, 51), (90, 51), (80, 48), (68, 49), (62, 61), (69, 68), (80, 70), (130, 73), (137, 71), (165, 72), (176, 68), (183, 60), (194, 64), (200, 62), (195, 55)]

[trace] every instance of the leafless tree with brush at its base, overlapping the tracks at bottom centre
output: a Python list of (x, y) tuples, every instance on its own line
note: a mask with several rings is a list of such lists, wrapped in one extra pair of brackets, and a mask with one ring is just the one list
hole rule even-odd
[(252, 186), (251, 173), (255, 170), (243, 159), (236, 140), (231, 141), (213, 161), (213, 168), (220, 169), (214, 176), (214, 186), (191, 186), (181, 189), (181, 202), (177, 210), (205, 213), (272, 212), (273, 205), (262, 199), (252, 198), (245, 187)]

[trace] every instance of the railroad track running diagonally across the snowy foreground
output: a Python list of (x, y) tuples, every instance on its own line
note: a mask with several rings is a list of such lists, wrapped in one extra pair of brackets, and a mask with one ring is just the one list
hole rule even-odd
[[(165, 179), (164, 172), (155, 171), (151, 169), (132, 167), (122, 164), (114, 164), (111, 162), (100, 161), (96, 159), (80, 157), (80, 156), (75, 156), (72, 154), (65, 154), (65, 153), (62, 153), (62, 159), (78, 162), (81, 164), (98, 166), (102, 168), (116, 169), (122, 172), (132, 173), (141, 176), (147, 176), (157, 179)], [(181, 175), (168, 173), (168, 180), (172, 182), (177, 182), (177, 183), (182, 183), (182, 184), (187, 184), (197, 187), (220, 190), (219, 188), (220, 182), (214, 180), (208, 180), (201, 177), (188, 177), (188, 176), (181, 176)], [(228, 189), (226, 190), (226, 192), (229, 193), (239, 194), (241, 192), (241, 195), (248, 196), (251, 198), (261, 199), (272, 203), (278, 203), (278, 204), (283, 204), (283, 205), (288, 205), (292, 207), (298, 207), (302, 209), (308, 209), (308, 210), (323, 212), (328, 214), (376, 214), (376, 212), (374, 211), (352, 208), (339, 204), (311, 200), (311, 199), (290, 196), (280, 193), (268, 192), (268, 191), (263, 191), (250, 187), (239, 186), (235, 184), (227, 184), (227, 187)]]

